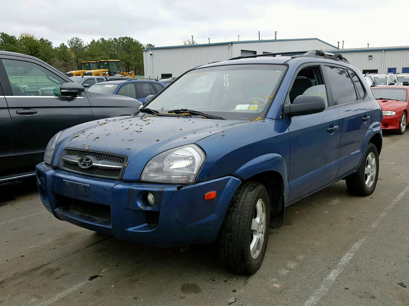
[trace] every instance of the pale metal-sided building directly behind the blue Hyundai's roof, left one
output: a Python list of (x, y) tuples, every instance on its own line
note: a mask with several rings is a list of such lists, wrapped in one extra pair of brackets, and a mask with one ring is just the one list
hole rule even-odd
[[(212, 44), (193, 44), (171, 47), (153, 47), (144, 50), (145, 77), (161, 78), (162, 74), (171, 73), (177, 77), (181, 73), (209, 62), (227, 60), (242, 55), (243, 51), (252, 54), (263, 52), (336, 50), (318, 38), (277, 39), (220, 42)], [(152, 52), (152, 55), (149, 55)]]

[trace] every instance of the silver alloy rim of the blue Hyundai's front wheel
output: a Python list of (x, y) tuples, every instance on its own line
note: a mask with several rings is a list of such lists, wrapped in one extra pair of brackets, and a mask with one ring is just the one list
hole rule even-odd
[(256, 259), (261, 253), (265, 237), (265, 202), (259, 199), (253, 211), (252, 227), (250, 232), (250, 253)]

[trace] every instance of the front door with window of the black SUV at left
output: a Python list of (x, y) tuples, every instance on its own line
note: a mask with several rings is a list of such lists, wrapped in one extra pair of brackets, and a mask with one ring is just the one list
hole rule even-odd
[(84, 93), (77, 98), (53, 94), (55, 86), (70, 81), (43, 62), (0, 55), (0, 82), (13, 127), (13, 169), (43, 161), (54, 134), (93, 119)]

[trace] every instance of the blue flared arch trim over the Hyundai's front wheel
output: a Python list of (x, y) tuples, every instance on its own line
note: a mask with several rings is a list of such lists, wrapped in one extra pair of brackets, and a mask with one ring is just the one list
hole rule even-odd
[(234, 172), (234, 175), (240, 178), (240, 180), (247, 180), (254, 175), (266, 171), (275, 171), (281, 175), (284, 184), (285, 196), (284, 200), (286, 200), (288, 197), (288, 193), (290, 191), (290, 185), (288, 183), (287, 165), (285, 163), (283, 156), (277, 153), (260, 155), (248, 161), (239, 169), (237, 169), (237, 171)]

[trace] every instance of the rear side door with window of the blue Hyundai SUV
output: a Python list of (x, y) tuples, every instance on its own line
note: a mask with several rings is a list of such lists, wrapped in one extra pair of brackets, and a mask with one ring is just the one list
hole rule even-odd
[(360, 163), (365, 135), (372, 123), (371, 110), (363, 100), (366, 91), (353, 69), (328, 64), (324, 66), (324, 76), (330, 84), (328, 95), (341, 118), (339, 178), (351, 173)]

